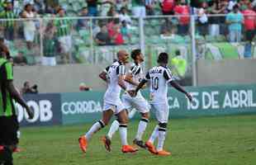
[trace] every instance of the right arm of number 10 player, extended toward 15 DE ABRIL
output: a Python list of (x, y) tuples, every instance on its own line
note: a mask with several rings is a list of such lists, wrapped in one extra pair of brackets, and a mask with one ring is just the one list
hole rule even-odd
[(185, 91), (185, 89), (180, 86), (177, 82), (173, 81), (171, 70), (168, 68), (164, 70), (164, 78), (171, 84), (172, 87), (174, 87), (178, 92), (183, 92), (189, 101), (192, 101), (192, 96)]

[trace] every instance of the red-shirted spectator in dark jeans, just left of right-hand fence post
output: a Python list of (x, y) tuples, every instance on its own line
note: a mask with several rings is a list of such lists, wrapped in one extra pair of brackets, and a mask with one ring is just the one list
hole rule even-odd
[(181, 0), (176, 7), (174, 7), (175, 15), (178, 17), (178, 35), (187, 35), (189, 28), (189, 7), (186, 0)]

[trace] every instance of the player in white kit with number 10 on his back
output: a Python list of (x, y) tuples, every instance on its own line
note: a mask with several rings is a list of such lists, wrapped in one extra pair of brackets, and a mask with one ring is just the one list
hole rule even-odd
[[(183, 87), (179, 86), (177, 82), (173, 81), (172, 73), (168, 64), (168, 54), (161, 53), (158, 58), (159, 66), (150, 68), (149, 72), (146, 74), (145, 79), (143, 79), (139, 86), (135, 89), (132, 96), (136, 96), (140, 88), (145, 85), (146, 82), (150, 82), (150, 99), (149, 103), (154, 107), (156, 113), (156, 118), (159, 122), (159, 125), (156, 125), (153, 133), (151, 134), (149, 140), (145, 143), (149, 152), (159, 155), (171, 155), (171, 153), (164, 150), (164, 140), (167, 130), (168, 123), (168, 101), (167, 101), (167, 92), (168, 92), (168, 83), (170, 83), (175, 89), (179, 92), (183, 92), (189, 101), (192, 101), (191, 95), (186, 92)], [(158, 137), (158, 146), (154, 147), (154, 139)]]

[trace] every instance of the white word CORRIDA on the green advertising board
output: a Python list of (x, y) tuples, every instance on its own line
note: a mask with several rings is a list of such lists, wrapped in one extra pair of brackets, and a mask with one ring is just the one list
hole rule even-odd
[(64, 115), (76, 115), (102, 112), (100, 101), (70, 101), (64, 102), (61, 106)]

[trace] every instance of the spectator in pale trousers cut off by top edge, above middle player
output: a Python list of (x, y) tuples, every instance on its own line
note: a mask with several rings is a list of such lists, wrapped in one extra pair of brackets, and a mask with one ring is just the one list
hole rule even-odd
[(133, 16), (145, 17), (146, 16), (145, 0), (131, 0), (131, 12)]

